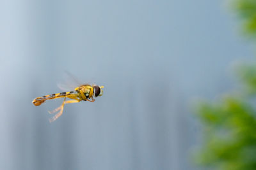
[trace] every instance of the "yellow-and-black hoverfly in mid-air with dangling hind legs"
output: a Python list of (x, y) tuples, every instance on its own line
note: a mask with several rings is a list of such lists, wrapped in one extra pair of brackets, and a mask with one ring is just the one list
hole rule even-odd
[[(58, 113), (56, 113), (54, 117), (49, 119), (49, 122), (54, 122), (57, 118), (59, 118), (62, 115), (65, 104), (78, 103), (80, 101), (94, 102), (95, 99), (93, 99), (93, 97), (102, 96), (103, 88), (104, 86), (99, 87), (99, 85), (85, 84), (85, 85), (76, 87), (76, 89), (74, 89), (74, 91), (71, 91), (71, 92), (61, 92), (57, 94), (49, 94), (42, 97), (36, 97), (35, 99), (33, 99), (32, 103), (35, 106), (40, 106), (42, 103), (44, 103), (49, 99), (57, 99), (60, 97), (64, 97), (64, 101), (60, 107), (56, 108), (55, 110), (49, 111), (49, 113), (51, 114), (56, 113), (56, 111), (59, 111)], [(67, 98), (72, 100), (66, 101)]]

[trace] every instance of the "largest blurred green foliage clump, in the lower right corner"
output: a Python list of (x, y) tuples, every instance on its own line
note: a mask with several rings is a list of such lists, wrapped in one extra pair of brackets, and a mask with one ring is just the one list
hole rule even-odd
[(250, 102), (227, 96), (216, 104), (201, 104), (198, 115), (204, 124), (200, 164), (215, 169), (256, 169), (256, 113)]

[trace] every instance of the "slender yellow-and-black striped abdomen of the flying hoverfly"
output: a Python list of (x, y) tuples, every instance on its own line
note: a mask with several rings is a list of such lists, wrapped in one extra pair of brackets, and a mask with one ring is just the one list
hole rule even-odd
[(36, 97), (32, 103), (35, 104), (35, 106), (40, 106), (42, 103), (44, 103), (46, 100), (49, 99), (56, 99), (56, 98), (60, 98), (60, 97), (66, 97), (70, 94), (75, 94), (76, 92), (62, 92), (62, 93), (57, 93), (57, 94), (49, 94), (46, 96), (42, 96), (42, 97)]

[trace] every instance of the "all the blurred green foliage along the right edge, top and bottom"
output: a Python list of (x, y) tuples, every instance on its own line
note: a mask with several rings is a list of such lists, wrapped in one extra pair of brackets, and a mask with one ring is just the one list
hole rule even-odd
[[(256, 40), (256, 0), (232, 4), (246, 34)], [(256, 64), (238, 67), (237, 76), (242, 89), (198, 107), (204, 135), (196, 160), (207, 169), (256, 169)]]

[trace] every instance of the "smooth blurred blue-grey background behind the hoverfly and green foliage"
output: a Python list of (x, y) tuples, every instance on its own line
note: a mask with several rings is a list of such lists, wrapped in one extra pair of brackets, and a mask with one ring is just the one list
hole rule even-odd
[[(223, 1), (1, 1), (0, 169), (204, 169), (198, 98), (253, 59)], [(68, 71), (104, 85), (49, 123)], [(72, 90), (72, 89), (71, 89)], [(204, 111), (202, 111), (204, 113)]]

